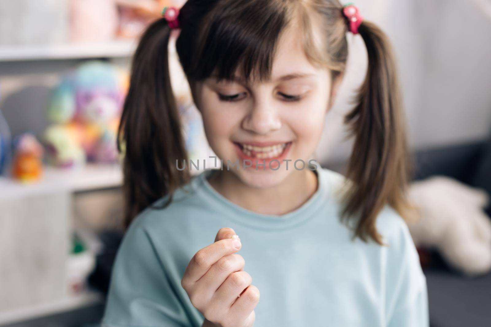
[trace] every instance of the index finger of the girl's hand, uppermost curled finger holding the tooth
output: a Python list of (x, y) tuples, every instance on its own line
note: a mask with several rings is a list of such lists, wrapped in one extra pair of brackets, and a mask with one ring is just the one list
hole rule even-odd
[(239, 251), (240, 239), (222, 239), (199, 250), (191, 258), (184, 272), (183, 284), (195, 282), (201, 278), (221, 257)]

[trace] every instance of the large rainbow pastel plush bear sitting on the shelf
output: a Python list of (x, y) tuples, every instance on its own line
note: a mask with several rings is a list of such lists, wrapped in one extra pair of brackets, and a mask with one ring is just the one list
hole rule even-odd
[(102, 61), (88, 61), (65, 76), (53, 93), (45, 132), (49, 160), (56, 166), (118, 159), (116, 131), (128, 75)]

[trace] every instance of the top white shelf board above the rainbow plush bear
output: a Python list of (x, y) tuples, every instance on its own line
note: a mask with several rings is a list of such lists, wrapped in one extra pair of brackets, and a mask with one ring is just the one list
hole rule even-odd
[(105, 43), (0, 46), (0, 62), (129, 57), (136, 49), (136, 42), (136, 40), (114, 40)]

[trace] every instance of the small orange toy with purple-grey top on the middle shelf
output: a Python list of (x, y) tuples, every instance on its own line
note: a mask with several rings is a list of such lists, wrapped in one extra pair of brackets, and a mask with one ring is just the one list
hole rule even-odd
[(29, 133), (19, 136), (15, 143), (12, 176), (24, 183), (38, 180), (42, 174), (43, 146)]

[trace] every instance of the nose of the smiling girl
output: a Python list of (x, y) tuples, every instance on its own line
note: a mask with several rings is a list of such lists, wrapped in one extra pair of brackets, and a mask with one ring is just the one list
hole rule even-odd
[(242, 121), (242, 128), (256, 134), (268, 134), (281, 128), (278, 110), (267, 101), (255, 101)]

